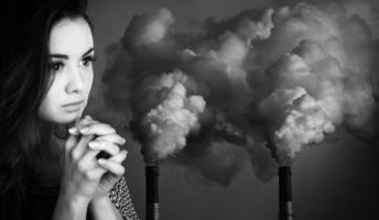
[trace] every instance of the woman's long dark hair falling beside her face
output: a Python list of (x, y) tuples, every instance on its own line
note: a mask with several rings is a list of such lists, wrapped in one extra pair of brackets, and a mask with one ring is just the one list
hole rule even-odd
[(41, 144), (37, 110), (52, 81), (51, 30), (63, 19), (90, 22), (85, 0), (13, 0), (1, 7), (7, 10), (0, 21), (0, 219), (21, 219), (24, 167)]

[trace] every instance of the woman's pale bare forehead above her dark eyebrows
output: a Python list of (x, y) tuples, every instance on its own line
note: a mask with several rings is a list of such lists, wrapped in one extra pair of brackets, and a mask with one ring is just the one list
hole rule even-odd
[(88, 23), (82, 19), (64, 19), (56, 23), (50, 34), (51, 54), (82, 55), (94, 47)]

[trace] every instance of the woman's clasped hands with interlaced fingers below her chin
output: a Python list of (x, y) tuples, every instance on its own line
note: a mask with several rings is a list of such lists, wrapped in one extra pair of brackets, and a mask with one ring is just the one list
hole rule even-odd
[[(107, 196), (124, 173), (121, 163), (127, 151), (119, 147), (124, 142), (113, 128), (88, 116), (71, 128), (65, 142), (61, 193), (87, 201)], [(97, 158), (101, 151), (110, 157)]]

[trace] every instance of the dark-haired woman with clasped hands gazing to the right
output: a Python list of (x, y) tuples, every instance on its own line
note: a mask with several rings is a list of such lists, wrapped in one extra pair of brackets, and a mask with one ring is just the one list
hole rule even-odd
[(0, 219), (138, 219), (124, 139), (82, 118), (95, 61), (85, 8), (13, 1), (1, 13)]

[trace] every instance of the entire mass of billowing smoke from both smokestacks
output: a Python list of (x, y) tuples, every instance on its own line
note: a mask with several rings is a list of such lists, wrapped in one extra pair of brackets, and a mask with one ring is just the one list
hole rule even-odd
[(107, 51), (105, 102), (148, 161), (223, 186), (247, 162), (270, 179), (271, 156), (291, 164), (338, 128), (375, 143), (379, 43), (347, 6), (247, 10), (187, 32), (169, 9), (134, 16)]

